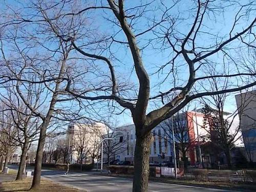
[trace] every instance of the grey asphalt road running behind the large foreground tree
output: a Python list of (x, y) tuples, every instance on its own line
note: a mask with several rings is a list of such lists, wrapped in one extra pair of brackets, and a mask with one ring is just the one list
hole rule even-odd
[[(42, 170), (42, 177), (61, 184), (73, 186), (87, 191), (132, 191), (132, 180), (121, 177), (109, 177), (87, 173), (70, 173), (64, 175), (59, 170)], [(157, 191), (230, 191), (205, 187), (168, 184), (161, 182), (149, 183), (149, 190)]]

